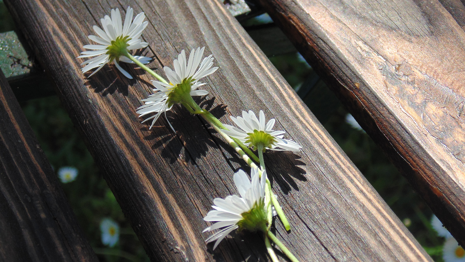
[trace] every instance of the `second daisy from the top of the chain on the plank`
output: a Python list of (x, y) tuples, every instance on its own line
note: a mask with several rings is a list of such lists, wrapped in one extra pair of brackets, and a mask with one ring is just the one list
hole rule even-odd
[[(147, 118), (142, 123), (153, 118), (152, 125), (150, 125), (150, 128), (152, 128), (160, 114), (170, 110), (173, 104), (182, 103), (187, 107), (194, 108), (192, 103), (195, 102), (192, 100), (192, 96), (208, 94), (206, 90), (197, 90), (197, 88), (205, 84), (200, 83), (199, 80), (212, 74), (218, 68), (212, 68), (213, 55), (209, 55), (202, 60), (204, 49), (205, 47), (197, 48), (197, 50), (192, 49), (188, 61), (186, 61), (186, 53), (182, 50), (178, 55), (178, 59), (173, 61), (174, 71), (167, 66), (164, 67), (163, 70), (165, 70), (170, 83), (152, 81), (155, 87), (153, 91), (156, 93), (141, 100), (145, 104), (137, 109), (137, 113), (140, 114), (139, 117), (153, 112), (157, 114)], [(200, 63), (200, 61), (202, 62)]]

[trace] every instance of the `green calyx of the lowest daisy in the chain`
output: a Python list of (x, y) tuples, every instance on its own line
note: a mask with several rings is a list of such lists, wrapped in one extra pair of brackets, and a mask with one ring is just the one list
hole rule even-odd
[(239, 226), (238, 232), (243, 229), (247, 229), (251, 232), (258, 230), (266, 232), (268, 230), (268, 220), (263, 200), (260, 200), (258, 204), (255, 202), (250, 211), (244, 212), (240, 215), (244, 219), (237, 223)]

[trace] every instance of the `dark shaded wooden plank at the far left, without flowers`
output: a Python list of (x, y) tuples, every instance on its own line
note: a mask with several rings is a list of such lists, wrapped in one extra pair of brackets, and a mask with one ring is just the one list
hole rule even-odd
[(0, 70), (0, 261), (98, 261)]

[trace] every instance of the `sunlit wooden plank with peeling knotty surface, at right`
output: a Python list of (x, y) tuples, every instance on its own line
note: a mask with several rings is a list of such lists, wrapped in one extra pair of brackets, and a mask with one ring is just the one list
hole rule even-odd
[(465, 245), (463, 1), (260, 2)]

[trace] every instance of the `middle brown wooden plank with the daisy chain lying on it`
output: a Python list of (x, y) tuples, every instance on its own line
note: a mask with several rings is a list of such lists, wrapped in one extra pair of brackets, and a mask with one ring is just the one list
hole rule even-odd
[(135, 108), (151, 93), (150, 77), (125, 66), (128, 80), (106, 66), (93, 77), (75, 57), (86, 36), (113, 7), (145, 11), (143, 54), (159, 70), (181, 49), (206, 46), (219, 70), (208, 76), (203, 106), (230, 123), (241, 110), (265, 110), (279, 130), (303, 145), (299, 154), (271, 152), (266, 163), (292, 231), (277, 222), (278, 237), (301, 261), (431, 261), (372, 186), (330, 138), (222, 3), (167, 1), (6, 1), (38, 60), (53, 76), (59, 96), (134, 231), (153, 261), (255, 261), (264, 258), (260, 236), (227, 238), (212, 251), (201, 233), (214, 197), (237, 193), (232, 175), (244, 162), (175, 106), (148, 130)]

